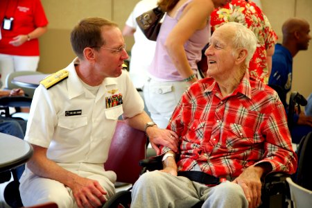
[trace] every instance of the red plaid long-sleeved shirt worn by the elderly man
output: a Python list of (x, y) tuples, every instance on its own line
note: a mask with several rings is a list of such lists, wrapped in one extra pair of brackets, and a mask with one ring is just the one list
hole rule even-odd
[(261, 162), (270, 162), (274, 172), (291, 174), (297, 168), (283, 104), (248, 72), (225, 98), (212, 78), (191, 85), (167, 128), (180, 136), (178, 171), (198, 164), (210, 175), (237, 177)]

